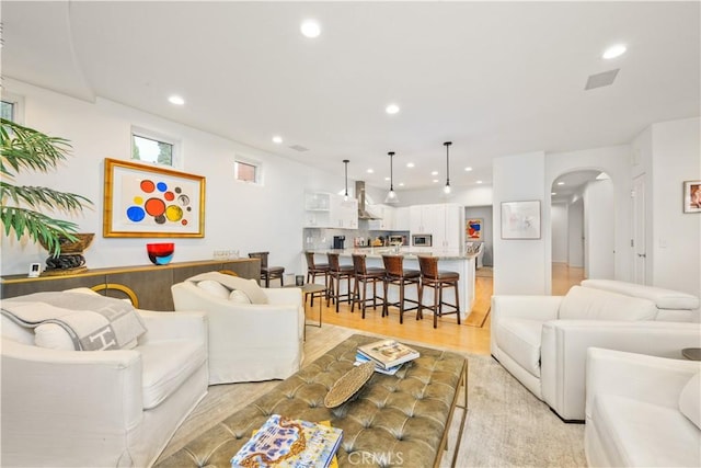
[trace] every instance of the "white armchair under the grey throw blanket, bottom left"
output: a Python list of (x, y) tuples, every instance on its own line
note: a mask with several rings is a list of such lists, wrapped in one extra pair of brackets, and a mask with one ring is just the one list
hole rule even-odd
[(151, 466), (207, 393), (204, 313), (137, 310), (134, 349), (39, 347), (2, 316), (2, 466)]

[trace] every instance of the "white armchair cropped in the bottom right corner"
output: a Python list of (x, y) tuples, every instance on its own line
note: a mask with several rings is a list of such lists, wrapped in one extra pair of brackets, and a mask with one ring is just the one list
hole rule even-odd
[(590, 467), (701, 466), (701, 362), (590, 347)]

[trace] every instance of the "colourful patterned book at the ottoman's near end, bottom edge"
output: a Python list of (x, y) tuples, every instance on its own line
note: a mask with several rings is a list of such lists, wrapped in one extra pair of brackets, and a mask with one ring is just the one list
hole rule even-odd
[(327, 422), (271, 415), (231, 458), (237, 467), (330, 468), (343, 431)]

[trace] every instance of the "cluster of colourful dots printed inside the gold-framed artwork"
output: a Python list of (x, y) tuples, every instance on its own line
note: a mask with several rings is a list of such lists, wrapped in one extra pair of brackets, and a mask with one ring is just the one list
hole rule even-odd
[(139, 183), (139, 190), (141, 193), (135, 195), (133, 205), (127, 207), (127, 218), (131, 222), (152, 219), (158, 225), (176, 222), (187, 226), (185, 215), (192, 212), (192, 206), (189, 196), (182, 193), (181, 187), (145, 179)]

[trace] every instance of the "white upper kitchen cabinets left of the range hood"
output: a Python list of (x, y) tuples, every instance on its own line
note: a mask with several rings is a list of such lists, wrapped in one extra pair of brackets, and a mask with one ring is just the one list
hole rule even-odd
[(358, 201), (332, 193), (304, 194), (306, 228), (358, 228)]

